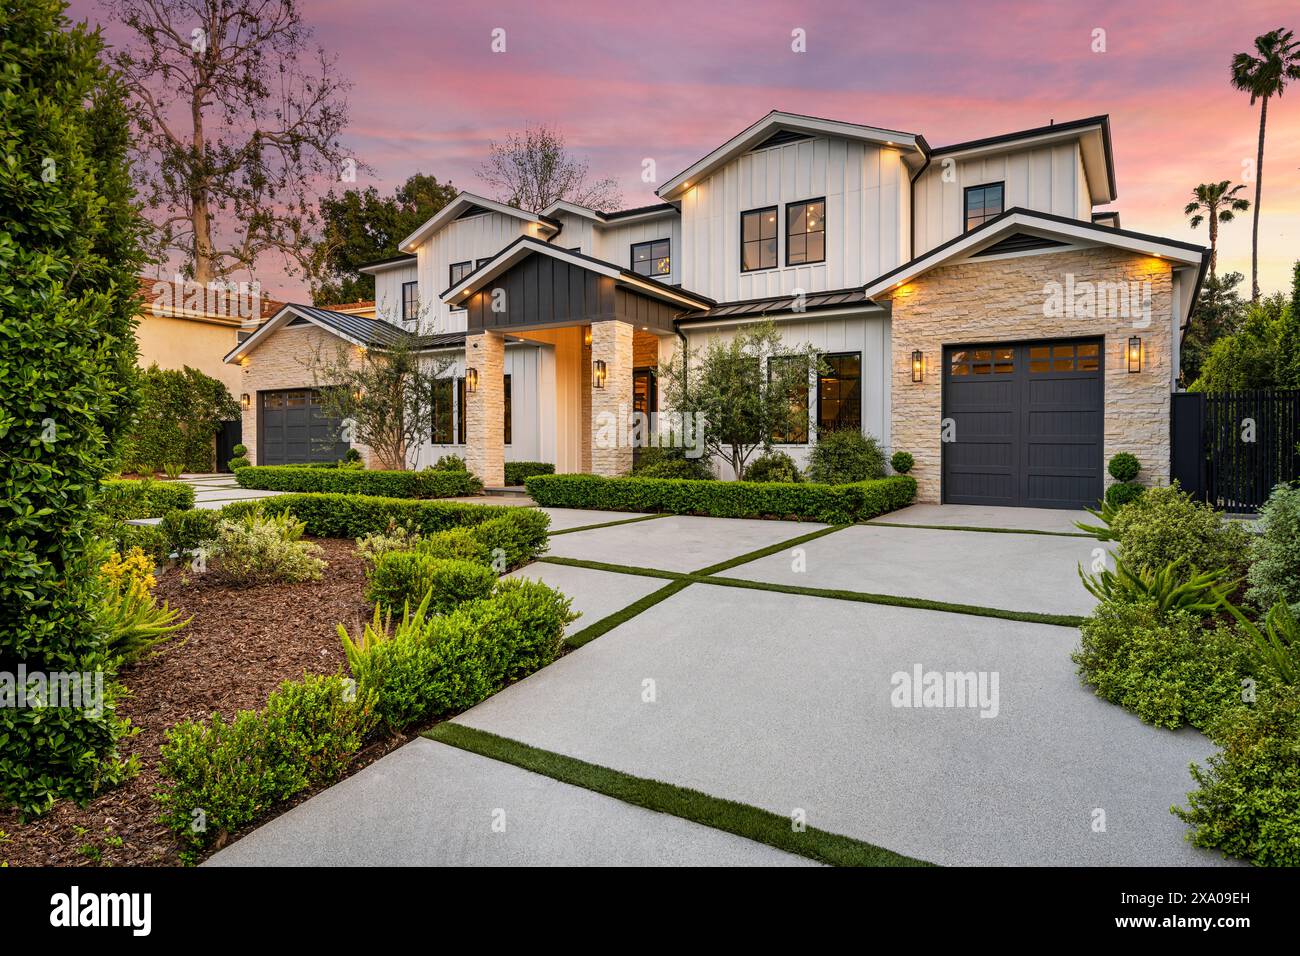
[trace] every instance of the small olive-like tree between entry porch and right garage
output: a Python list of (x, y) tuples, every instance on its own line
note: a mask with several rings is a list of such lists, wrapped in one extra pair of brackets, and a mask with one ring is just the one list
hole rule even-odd
[(742, 475), (755, 451), (807, 429), (809, 376), (820, 371), (812, 346), (792, 349), (764, 320), (686, 350), (659, 369), (659, 384), (668, 408), (705, 420), (706, 454)]

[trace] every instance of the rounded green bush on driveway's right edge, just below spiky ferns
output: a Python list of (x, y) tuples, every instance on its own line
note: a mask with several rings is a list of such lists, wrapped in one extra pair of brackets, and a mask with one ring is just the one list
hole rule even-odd
[(1206, 730), (1240, 702), (1245, 639), (1227, 624), (1154, 605), (1104, 601), (1080, 628), (1072, 659), (1095, 693), (1157, 727)]

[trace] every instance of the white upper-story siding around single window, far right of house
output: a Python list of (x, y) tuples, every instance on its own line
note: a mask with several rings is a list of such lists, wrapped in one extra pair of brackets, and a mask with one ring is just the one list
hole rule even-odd
[(1005, 183), (1002, 206), (1006, 209), (1019, 206), (1092, 221), (1083, 155), (1075, 142), (968, 159), (935, 156), (913, 186), (914, 255), (923, 255), (961, 235), (966, 226), (966, 189), (997, 182)]

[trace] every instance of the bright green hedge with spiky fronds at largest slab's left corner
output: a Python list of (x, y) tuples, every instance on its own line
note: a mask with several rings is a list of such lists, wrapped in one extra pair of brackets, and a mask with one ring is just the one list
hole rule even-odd
[(399, 731), (465, 710), (550, 663), (575, 618), (558, 591), (511, 579), (443, 617), (425, 601), (393, 626), (376, 607), (355, 640), (342, 624), (338, 632), (358, 687), (373, 695), (384, 724)]

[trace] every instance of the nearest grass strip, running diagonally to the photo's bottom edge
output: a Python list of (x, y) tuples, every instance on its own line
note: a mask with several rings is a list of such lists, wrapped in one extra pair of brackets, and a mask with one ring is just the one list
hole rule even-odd
[[(671, 585), (670, 585), (671, 587)], [(733, 800), (701, 793), (698, 790), (676, 787), (671, 783), (633, 777), (595, 763), (541, 750), (517, 740), (465, 727), (459, 723), (439, 723), (425, 731), (426, 737), (448, 747), (477, 753), (503, 763), (549, 777), (560, 783), (582, 787), (595, 793), (621, 800), (633, 806), (644, 806), (656, 813), (689, 819), (693, 823), (723, 830), (763, 843), (786, 853), (818, 860), (832, 866), (931, 866), (850, 836), (807, 827), (797, 832), (788, 817), (770, 810), (738, 804)]]

